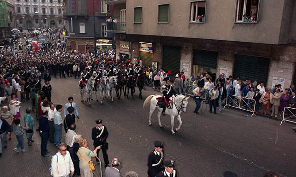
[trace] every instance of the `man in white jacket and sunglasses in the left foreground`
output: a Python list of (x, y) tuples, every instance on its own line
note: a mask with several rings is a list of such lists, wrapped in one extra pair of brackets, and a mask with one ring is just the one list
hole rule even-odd
[(72, 177), (74, 165), (66, 143), (60, 143), (58, 149), (59, 151), (51, 159), (51, 173), (53, 177)]

